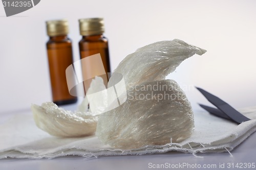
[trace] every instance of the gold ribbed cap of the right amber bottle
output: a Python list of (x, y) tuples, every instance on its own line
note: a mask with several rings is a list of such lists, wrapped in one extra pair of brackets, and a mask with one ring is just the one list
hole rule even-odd
[(104, 33), (103, 18), (85, 18), (79, 19), (80, 35), (100, 35)]

